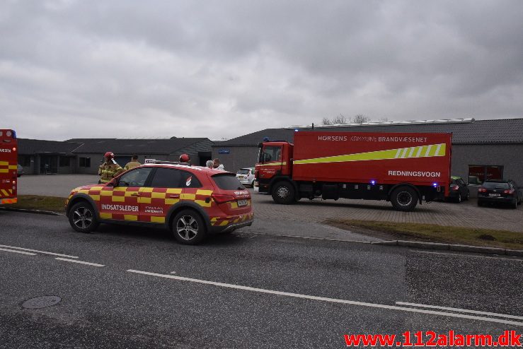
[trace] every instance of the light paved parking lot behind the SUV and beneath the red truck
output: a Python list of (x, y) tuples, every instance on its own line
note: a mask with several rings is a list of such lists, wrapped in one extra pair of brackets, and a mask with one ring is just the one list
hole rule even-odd
[[(62, 196), (81, 184), (93, 184), (93, 175), (41, 175), (19, 179), (19, 194)], [(252, 189), (249, 189), (252, 191)], [(277, 205), (271, 196), (253, 193), (255, 215), (266, 220), (321, 223), (327, 218), (427, 223), (523, 232), (523, 207), (478, 207), (476, 199), (463, 203), (423, 203), (414, 212), (393, 211), (385, 201), (301, 199), (294, 205)]]

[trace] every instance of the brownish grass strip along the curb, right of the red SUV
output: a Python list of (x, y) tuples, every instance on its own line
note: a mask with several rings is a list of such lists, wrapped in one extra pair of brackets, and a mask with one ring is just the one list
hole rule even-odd
[(523, 249), (523, 232), (452, 227), (435, 224), (391, 223), (374, 220), (329, 219), (323, 223), (368, 235), (377, 232), (381, 237), (387, 235), (390, 236), (391, 239), (415, 239), (427, 242), (468, 244), (480, 247)]

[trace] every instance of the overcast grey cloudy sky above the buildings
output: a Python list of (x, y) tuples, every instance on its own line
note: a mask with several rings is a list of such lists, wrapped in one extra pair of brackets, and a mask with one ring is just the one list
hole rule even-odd
[(523, 1), (0, 2), (0, 128), (234, 138), (523, 117)]

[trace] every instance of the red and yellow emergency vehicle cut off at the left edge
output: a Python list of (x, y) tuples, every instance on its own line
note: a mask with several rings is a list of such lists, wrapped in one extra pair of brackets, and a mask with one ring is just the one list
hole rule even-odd
[(0, 129), (0, 204), (16, 203), (18, 144), (16, 132)]

